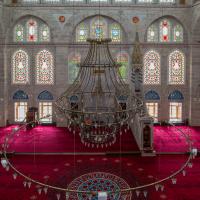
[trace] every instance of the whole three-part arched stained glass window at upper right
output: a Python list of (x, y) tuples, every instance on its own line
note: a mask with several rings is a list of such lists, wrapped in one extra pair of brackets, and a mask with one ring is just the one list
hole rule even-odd
[(183, 42), (183, 27), (174, 19), (159, 19), (147, 30), (148, 42)]

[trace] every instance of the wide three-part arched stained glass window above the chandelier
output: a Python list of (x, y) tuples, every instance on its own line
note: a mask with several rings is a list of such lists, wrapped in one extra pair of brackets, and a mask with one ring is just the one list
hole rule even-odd
[(111, 38), (112, 42), (120, 42), (122, 29), (119, 23), (112, 19), (96, 16), (81, 22), (76, 28), (76, 41), (86, 42), (87, 38)]

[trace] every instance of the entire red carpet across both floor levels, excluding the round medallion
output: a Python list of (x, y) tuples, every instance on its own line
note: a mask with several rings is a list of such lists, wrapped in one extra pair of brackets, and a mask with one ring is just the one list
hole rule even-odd
[[(14, 126), (0, 129), (0, 141)], [(189, 131), (194, 146), (200, 149), (200, 128), (180, 126), (179, 128)], [(187, 146), (185, 139), (180, 137), (179, 132), (173, 127), (156, 126), (154, 146), (156, 151), (161, 152), (185, 152)], [(113, 152), (137, 151), (138, 148), (131, 132), (124, 133), (117, 143), (108, 149), (91, 149), (80, 142), (79, 136), (67, 132), (66, 128), (38, 126), (31, 131), (23, 131), (19, 137), (15, 137), (10, 145), (10, 150), (17, 152)], [(28, 176), (38, 180), (48, 178), (48, 183), (67, 187), (75, 178), (91, 172), (107, 172), (123, 178), (130, 186), (150, 183), (164, 178), (178, 169), (186, 155), (161, 155), (156, 157), (140, 157), (139, 155), (126, 155), (122, 158), (117, 156), (24, 156), (16, 155), (12, 158), (18, 169)], [(30, 189), (23, 187), (23, 179), (12, 178), (12, 172), (5, 172), (0, 167), (0, 200), (56, 200), (56, 194), (49, 191), (45, 196), (38, 195), (35, 186)], [(186, 177), (178, 176), (177, 185), (171, 181), (166, 183), (163, 192), (156, 192), (155, 188), (149, 189), (148, 200), (199, 200), (200, 192), (200, 158), (194, 161), (194, 167), (187, 170)], [(132, 199), (145, 200), (144, 197)], [(61, 200), (65, 200), (64, 194)]]

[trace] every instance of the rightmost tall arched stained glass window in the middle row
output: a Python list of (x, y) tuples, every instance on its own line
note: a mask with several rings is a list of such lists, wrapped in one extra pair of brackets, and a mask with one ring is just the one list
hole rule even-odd
[(184, 84), (185, 56), (175, 50), (169, 55), (169, 84)]

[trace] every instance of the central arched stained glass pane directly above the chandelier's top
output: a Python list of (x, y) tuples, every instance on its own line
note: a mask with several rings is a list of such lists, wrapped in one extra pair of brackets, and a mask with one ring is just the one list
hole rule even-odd
[(102, 39), (107, 36), (107, 23), (102, 17), (97, 17), (92, 22), (92, 38)]

